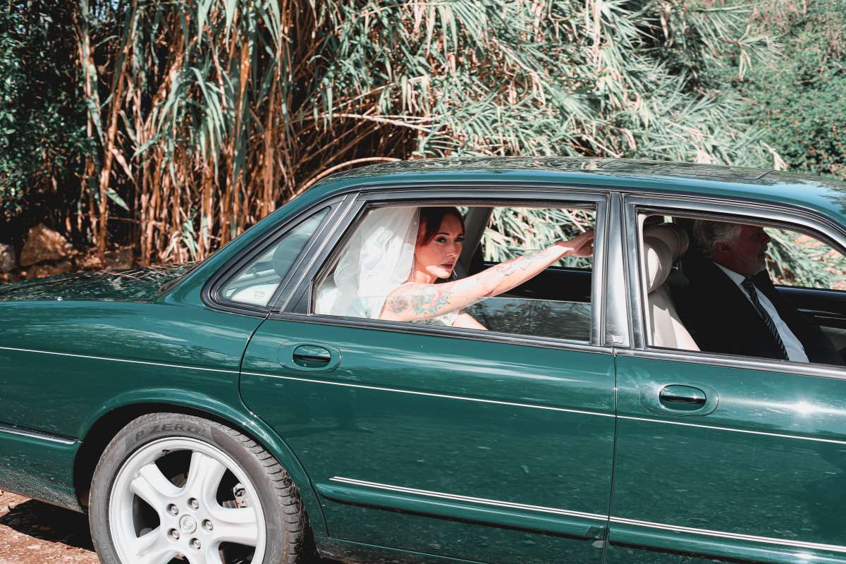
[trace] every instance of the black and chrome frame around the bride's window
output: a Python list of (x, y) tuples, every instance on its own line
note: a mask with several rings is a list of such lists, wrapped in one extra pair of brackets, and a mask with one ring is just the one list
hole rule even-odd
[[(485, 185), (473, 189), (455, 186), (427, 186), (425, 189), (404, 189), (397, 187), (393, 191), (382, 189), (362, 190), (346, 214), (338, 222), (332, 237), (326, 238), (321, 249), (310, 257), (310, 264), (302, 269), (298, 282), (294, 282), (294, 291), (287, 300), (274, 308), (271, 319), (294, 320), (316, 323), (326, 326), (350, 326), (370, 328), (378, 331), (398, 331), (420, 335), (438, 335), (444, 337), (468, 338), (513, 344), (529, 344), (548, 348), (569, 348), (576, 350), (602, 350), (610, 353), (611, 349), (602, 344), (602, 327), (605, 320), (605, 299), (603, 289), (606, 283), (607, 240), (610, 227), (609, 205), (611, 196), (602, 188), (571, 189), (566, 186), (536, 187), (509, 185), (497, 187)], [(410, 187), (409, 187), (410, 188)], [(343, 249), (350, 235), (354, 233), (366, 211), (381, 205), (514, 205), (547, 207), (591, 207), (596, 211), (596, 231), (599, 234), (594, 247), (596, 259), (592, 269), (591, 282), (591, 331), (585, 341), (571, 341), (556, 337), (517, 335), (497, 331), (481, 331), (460, 327), (440, 327), (390, 320), (358, 319), (333, 315), (316, 315), (311, 312), (311, 293), (314, 284), (332, 264)]]

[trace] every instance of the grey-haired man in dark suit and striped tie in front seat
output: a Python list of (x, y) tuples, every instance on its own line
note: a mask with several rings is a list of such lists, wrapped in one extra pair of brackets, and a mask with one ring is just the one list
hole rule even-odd
[(690, 283), (673, 300), (700, 350), (844, 364), (820, 327), (773, 287), (766, 273), (771, 239), (762, 227), (696, 220), (693, 235), (700, 255), (684, 257)]

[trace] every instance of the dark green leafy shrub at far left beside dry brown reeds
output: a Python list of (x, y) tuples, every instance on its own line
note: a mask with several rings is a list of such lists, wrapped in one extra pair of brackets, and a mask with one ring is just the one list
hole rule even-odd
[(0, 220), (67, 207), (88, 150), (67, 6), (0, 8)]

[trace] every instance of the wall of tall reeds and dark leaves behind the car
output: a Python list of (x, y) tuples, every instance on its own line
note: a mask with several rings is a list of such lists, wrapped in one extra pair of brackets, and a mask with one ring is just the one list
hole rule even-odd
[(770, 42), (747, 32), (750, 8), (715, 0), (2, 9), (3, 201), (34, 216), (53, 190), (61, 223), (102, 255), (122, 233), (142, 262), (203, 258), (370, 162), (770, 159), (728, 78)]

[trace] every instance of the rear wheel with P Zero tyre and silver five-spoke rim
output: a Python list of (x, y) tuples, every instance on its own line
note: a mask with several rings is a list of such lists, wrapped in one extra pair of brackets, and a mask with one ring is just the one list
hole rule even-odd
[(89, 522), (104, 564), (300, 564), (314, 555), (282, 465), (239, 431), (182, 413), (144, 415), (114, 436), (94, 472)]

